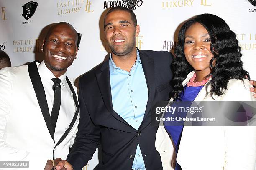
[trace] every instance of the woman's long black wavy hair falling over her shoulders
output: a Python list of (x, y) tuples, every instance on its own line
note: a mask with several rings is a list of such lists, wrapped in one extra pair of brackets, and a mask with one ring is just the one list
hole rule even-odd
[[(185, 22), (179, 31), (178, 43), (174, 50), (176, 58), (172, 63), (172, 71), (174, 73), (172, 85), (174, 90), (172, 90), (170, 95), (174, 100), (177, 100), (179, 93), (184, 90), (182, 82), (189, 72), (194, 70), (185, 58), (184, 40), (185, 32), (196, 22), (200, 23), (208, 31), (211, 39), (210, 50), (214, 55), (212, 60), (210, 60), (210, 69), (212, 70), (210, 75), (212, 79), (206, 85), (207, 94), (207, 87), (209, 85), (211, 87), (211, 97), (213, 95), (221, 96), (224, 94), (224, 90), (227, 89), (230, 79), (243, 80), (247, 76), (248, 80), (250, 80), (249, 73), (243, 69), (241, 47), (238, 46), (236, 34), (230, 30), (228, 24), (216, 15), (197, 15), (195, 18)], [(216, 60), (215, 65), (212, 64), (214, 60)]]

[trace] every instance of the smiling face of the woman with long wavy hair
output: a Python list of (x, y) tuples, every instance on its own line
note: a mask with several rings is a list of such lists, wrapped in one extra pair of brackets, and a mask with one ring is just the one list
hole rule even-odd
[(184, 54), (187, 62), (197, 71), (210, 74), (210, 60), (214, 56), (210, 50), (211, 39), (200, 24), (192, 24), (185, 33)]

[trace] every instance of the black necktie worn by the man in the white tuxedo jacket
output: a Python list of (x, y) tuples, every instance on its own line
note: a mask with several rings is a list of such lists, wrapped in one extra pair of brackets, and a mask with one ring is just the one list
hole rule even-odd
[(61, 104), (61, 80), (59, 78), (52, 78), (51, 80), (54, 82), (54, 85), (52, 86), (52, 90), (54, 90), (54, 104), (51, 110), (51, 125), (53, 128), (53, 132), (55, 132), (55, 127), (59, 116), (59, 108)]

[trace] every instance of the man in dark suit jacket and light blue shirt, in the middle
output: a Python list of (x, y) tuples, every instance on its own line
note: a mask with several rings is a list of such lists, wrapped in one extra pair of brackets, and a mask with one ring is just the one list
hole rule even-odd
[(79, 131), (68, 162), (56, 168), (81, 170), (101, 144), (98, 170), (161, 170), (151, 107), (169, 100), (172, 55), (136, 48), (140, 28), (128, 8), (110, 9), (104, 26), (110, 59), (79, 80)]

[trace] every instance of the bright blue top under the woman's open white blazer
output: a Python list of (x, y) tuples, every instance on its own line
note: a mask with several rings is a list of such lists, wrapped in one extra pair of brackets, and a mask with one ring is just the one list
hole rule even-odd
[[(197, 97), (197, 95), (200, 92), (200, 90), (202, 89), (202, 87), (204, 87), (204, 86), (198, 86), (198, 87), (192, 87), (192, 86), (187, 87), (187, 85), (184, 86), (184, 91), (181, 92), (179, 95), (180, 101), (194, 101), (195, 97)], [(186, 113), (184, 114), (184, 116), (185, 115), (186, 115)], [(170, 116), (170, 114), (164, 115), (164, 117), (168, 117), (168, 116)], [(173, 116), (175, 116), (175, 113), (172, 115), (172, 117)], [(175, 122), (174, 122), (174, 124), (175, 124)], [(184, 122), (183, 122), (183, 124), (184, 124)], [(176, 153), (178, 153), (179, 143), (180, 143), (180, 139), (182, 136), (183, 125), (177, 126), (177, 125), (172, 125), (172, 122), (164, 122), (164, 127), (165, 127), (166, 131), (169, 133), (169, 135), (171, 136), (172, 141), (174, 142), (174, 145), (175, 145), (175, 151), (176, 151)], [(181, 167), (178, 163), (176, 163), (175, 170), (181, 170)]]

